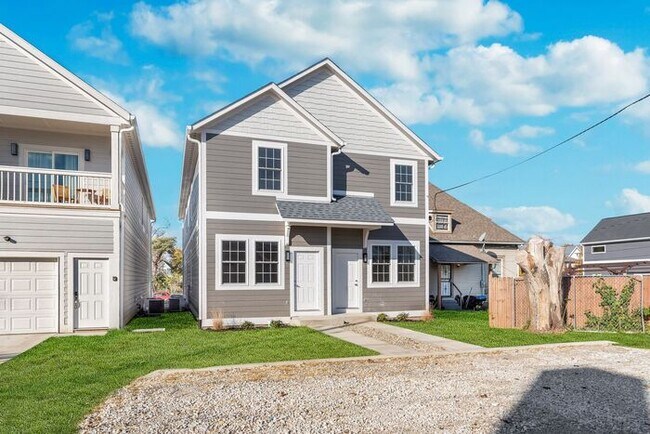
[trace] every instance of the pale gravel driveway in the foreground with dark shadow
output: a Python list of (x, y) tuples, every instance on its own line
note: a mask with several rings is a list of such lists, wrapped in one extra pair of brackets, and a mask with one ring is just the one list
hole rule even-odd
[(591, 345), (161, 372), (82, 432), (650, 432), (650, 352)]

